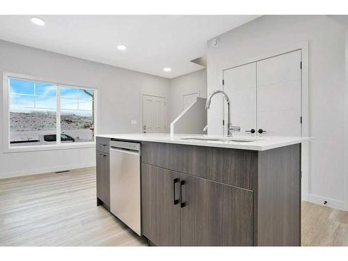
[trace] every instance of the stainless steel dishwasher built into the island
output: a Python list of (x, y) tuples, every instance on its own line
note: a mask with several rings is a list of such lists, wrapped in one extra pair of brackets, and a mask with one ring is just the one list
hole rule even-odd
[(110, 211), (141, 235), (140, 143), (110, 141)]

